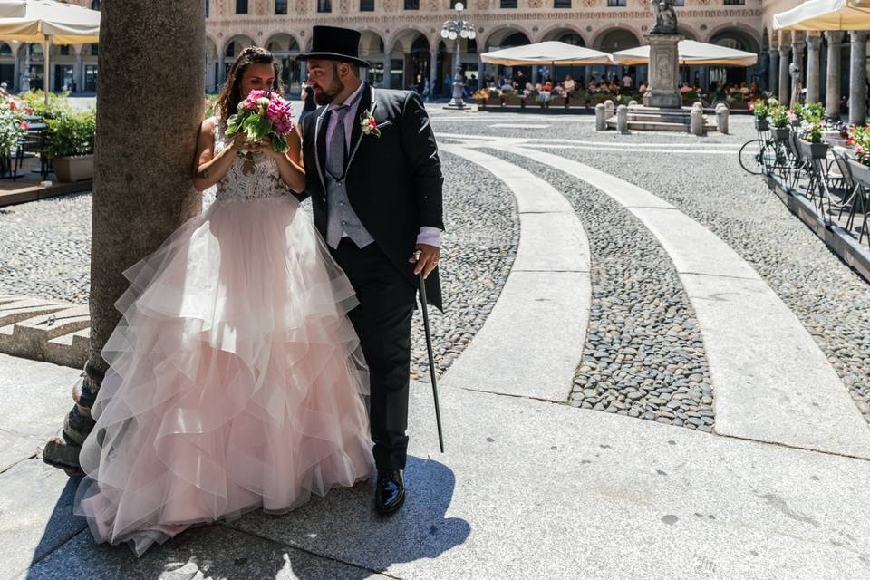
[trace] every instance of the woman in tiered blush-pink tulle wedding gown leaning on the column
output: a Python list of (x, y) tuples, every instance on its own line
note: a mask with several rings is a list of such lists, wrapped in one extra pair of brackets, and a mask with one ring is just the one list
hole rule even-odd
[(137, 556), (192, 524), (283, 513), (374, 471), (346, 316), (356, 298), (291, 195), (304, 189), (299, 133), (286, 154), (224, 134), (252, 90), (281, 91), (256, 47), (202, 123), (194, 184), (217, 184), (217, 201), (124, 272), (102, 350), (75, 512), (98, 542), (129, 541)]

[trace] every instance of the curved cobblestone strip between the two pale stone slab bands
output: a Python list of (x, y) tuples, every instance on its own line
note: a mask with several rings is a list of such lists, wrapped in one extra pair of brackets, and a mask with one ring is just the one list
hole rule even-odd
[(592, 248), (592, 308), (571, 404), (710, 432), (698, 321), (671, 259), (627, 209), (579, 179), (498, 154), (555, 184)]

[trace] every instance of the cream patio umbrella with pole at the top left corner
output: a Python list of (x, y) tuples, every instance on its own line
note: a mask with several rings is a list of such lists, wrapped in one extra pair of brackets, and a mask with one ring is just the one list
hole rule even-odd
[(0, 0), (0, 40), (43, 45), (47, 103), (51, 45), (99, 42), (100, 13), (55, 0)]

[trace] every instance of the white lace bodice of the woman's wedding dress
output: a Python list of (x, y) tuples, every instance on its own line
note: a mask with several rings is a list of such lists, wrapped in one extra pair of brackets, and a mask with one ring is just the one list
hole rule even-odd
[[(215, 124), (215, 154), (227, 147), (231, 137), (227, 137)], [(290, 193), (284, 179), (278, 172), (278, 165), (271, 157), (260, 153), (253, 160), (237, 157), (227, 174), (218, 181), (218, 200), (275, 198)]]

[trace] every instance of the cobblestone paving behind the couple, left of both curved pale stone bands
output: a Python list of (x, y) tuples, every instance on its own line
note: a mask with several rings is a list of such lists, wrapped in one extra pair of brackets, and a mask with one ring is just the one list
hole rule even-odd
[[(440, 275), (446, 311), (430, 308), (437, 374), (469, 343), (498, 299), (517, 253), (516, 202), (500, 180), (444, 155), (446, 234)], [(208, 207), (214, 190), (203, 197)], [(308, 208), (309, 202), (304, 206)], [(77, 194), (0, 208), (0, 294), (87, 304), (90, 290), (91, 195)], [(420, 311), (414, 316), (411, 377), (428, 382)]]

